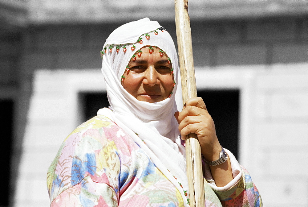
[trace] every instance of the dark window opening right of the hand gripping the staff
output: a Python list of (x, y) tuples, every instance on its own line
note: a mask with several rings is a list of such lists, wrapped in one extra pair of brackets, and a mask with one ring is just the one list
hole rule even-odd
[(238, 155), (239, 90), (198, 90), (215, 122), (220, 144)]

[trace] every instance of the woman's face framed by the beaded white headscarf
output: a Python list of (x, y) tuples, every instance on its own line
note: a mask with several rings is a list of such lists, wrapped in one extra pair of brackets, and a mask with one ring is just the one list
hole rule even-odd
[(139, 101), (150, 103), (162, 101), (169, 97), (173, 90), (172, 65), (168, 63), (167, 54), (160, 55), (160, 48), (150, 46), (141, 48), (141, 56), (136, 54), (136, 60), (130, 60), (130, 70), (124, 72), (122, 86)]

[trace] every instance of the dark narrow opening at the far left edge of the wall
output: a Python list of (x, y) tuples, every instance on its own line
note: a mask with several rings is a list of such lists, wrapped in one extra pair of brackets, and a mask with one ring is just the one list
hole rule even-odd
[(13, 127), (13, 101), (0, 100), (1, 118), (2, 118), (2, 144), (0, 145), (0, 157), (2, 170), (0, 177), (4, 178), (1, 181), (0, 188), (0, 206), (9, 205), (10, 192), (10, 161), (12, 148), (12, 127)]

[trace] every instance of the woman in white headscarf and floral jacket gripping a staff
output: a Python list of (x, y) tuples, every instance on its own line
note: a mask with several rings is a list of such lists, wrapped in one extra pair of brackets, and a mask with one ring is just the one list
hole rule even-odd
[(232, 153), (220, 156), (226, 154), (202, 99), (177, 112), (177, 55), (163, 27), (148, 18), (124, 24), (101, 53), (110, 107), (60, 147), (47, 175), (51, 206), (188, 206), (181, 137), (189, 133), (197, 134), (207, 163), (206, 205), (262, 205)]

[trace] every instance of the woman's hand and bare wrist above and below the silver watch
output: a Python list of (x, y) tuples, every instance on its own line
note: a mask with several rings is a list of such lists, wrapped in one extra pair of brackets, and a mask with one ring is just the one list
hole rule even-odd
[[(186, 135), (190, 133), (195, 133), (204, 158), (207, 161), (219, 159), (221, 146), (216, 136), (215, 124), (201, 97), (188, 99), (183, 110), (176, 112), (174, 116), (179, 123), (182, 139), (185, 139)], [(233, 179), (229, 158), (227, 162), (209, 166), (209, 168), (218, 187), (225, 186)]]

